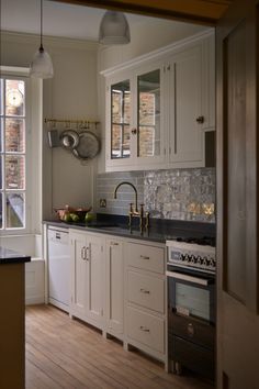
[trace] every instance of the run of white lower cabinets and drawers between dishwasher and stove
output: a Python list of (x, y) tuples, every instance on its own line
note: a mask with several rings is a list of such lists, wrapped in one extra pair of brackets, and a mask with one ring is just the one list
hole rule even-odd
[(69, 230), (69, 313), (167, 366), (165, 244)]

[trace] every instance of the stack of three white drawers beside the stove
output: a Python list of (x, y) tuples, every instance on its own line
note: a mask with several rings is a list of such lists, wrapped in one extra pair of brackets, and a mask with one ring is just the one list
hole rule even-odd
[(125, 344), (166, 363), (165, 246), (125, 243)]

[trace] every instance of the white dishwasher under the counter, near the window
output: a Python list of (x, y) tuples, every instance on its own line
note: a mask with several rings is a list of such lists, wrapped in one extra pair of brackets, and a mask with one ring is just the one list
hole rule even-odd
[(69, 308), (69, 244), (68, 231), (50, 226), (48, 241), (48, 301), (68, 312)]

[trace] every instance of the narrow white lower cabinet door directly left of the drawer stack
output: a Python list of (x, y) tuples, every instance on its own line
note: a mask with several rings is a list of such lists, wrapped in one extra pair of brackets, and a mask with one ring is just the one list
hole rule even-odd
[(123, 241), (106, 238), (106, 331), (116, 337), (123, 335)]

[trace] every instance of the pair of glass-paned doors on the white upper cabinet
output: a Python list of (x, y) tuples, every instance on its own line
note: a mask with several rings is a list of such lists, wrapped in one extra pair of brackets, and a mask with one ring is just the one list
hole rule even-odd
[(130, 71), (128, 78), (123, 75), (108, 85), (106, 166), (157, 164), (162, 154), (161, 68), (145, 66)]

